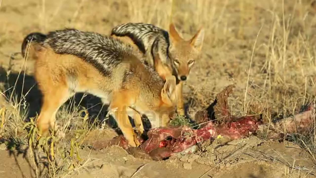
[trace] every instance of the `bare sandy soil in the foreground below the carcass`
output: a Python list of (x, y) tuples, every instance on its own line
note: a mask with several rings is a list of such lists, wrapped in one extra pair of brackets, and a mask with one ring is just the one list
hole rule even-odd
[[(1, 150), (0, 155), (0, 173), (3, 177), (36, 177), (32, 158), (27, 151), (18, 154)], [(134, 177), (150, 178), (196, 178), (204, 173), (204, 177), (220, 178), (315, 176), (308, 175), (314, 169), (313, 162), (300, 147), (289, 142), (263, 141), (258, 137), (227, 144), (213, 143), (205, 147), (202, 153), (177, 154), (165, 161), (134, 157), (116, 145), (100, 151), (81, 149), (79, 155), (84, 161), (77, 170), (69, 171), (70, 177), (131, 177), (135, 172)]]

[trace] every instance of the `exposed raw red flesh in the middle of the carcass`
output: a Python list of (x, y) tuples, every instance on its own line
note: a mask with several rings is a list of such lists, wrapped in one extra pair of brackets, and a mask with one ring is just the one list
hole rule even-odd
[(172, 156), (174, 153), (181, 152), (218, 135), (231, 139), (247, 137), (249, 134), (256, 132), (258, 123), (253, 117), (243, 117), (238, 121), (226, 123), (219, 127), (214, 126), (212, 122), (208, 122), (204, 124), (204, 127), (197, 130), (187, 126), (155, 128), (149, 130), (149, 138), (141, 145), (141, 149), (149, 154), (154, 151), (155, 154), (150, 155), (156, 160), (164, 159), (166, 156)]

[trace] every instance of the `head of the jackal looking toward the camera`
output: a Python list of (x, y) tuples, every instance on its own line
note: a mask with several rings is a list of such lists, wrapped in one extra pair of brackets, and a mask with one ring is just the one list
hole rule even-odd
[(185, 81), (195, 61), (200, 57), (204, 40), (204, 29), (200, 28), (190, 40), (184, 40), (175, 29), (173, 23), (171, 23), (169, 26), (169, 38), (171, 65), (177, 78)]

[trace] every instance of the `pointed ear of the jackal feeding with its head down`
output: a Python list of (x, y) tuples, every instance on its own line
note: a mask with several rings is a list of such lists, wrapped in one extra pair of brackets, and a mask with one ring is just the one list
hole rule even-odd
[(166, 78), (165, 85), (161, 90), (161, 99), (168, 105), (176, 103), (176, 78), (171, 75)]

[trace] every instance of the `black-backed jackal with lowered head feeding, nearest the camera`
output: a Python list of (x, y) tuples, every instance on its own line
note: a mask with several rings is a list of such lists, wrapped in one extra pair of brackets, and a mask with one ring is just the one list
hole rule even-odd
[(143, 64), (131, 46), (117, 39), (64, 29), (47, 35), (31, 33), (21, 48), (23, 56), (28, 51), (27, 56), (36, 60), (35, 79), (43, 94), (37, 118), (40, 133), (54, 128), (58, 108), (76, 92), (93, 94), (109, 104), (109, 111), (131, 146), (139, 142), (128, 115), (133, 115), (142, 133), (140, 114), (147, 115), (153, 127), (165, 126), (173, 114), (177, 102), (175, 77), (164, 81)]

